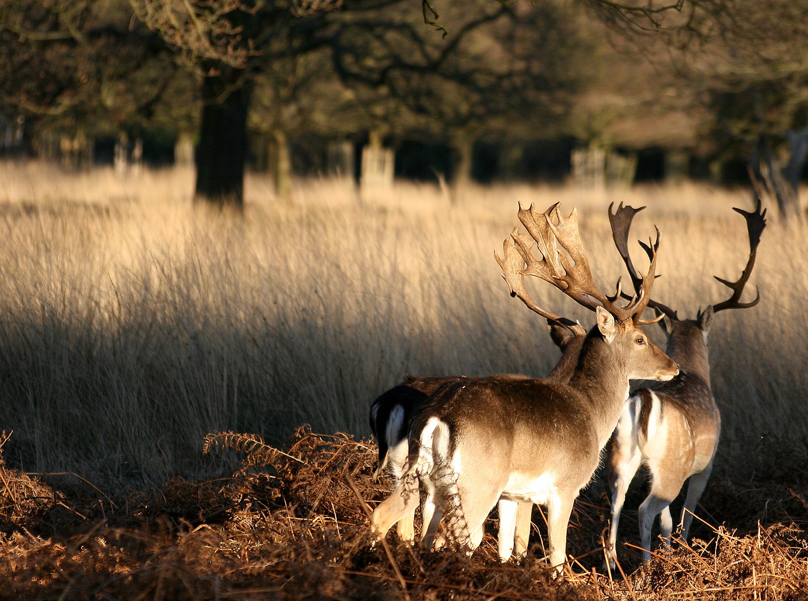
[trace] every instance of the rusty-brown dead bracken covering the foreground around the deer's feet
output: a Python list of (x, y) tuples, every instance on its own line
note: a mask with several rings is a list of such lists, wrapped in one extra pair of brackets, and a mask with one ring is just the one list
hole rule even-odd
[[(601, 567), (607, 508), (595, 497), (602, 490), (595, 482), (571, 524), (569, 552), (578, 559), (566, 578), (553, 582), (535, 533), (532, 553), (520, 564), (499, 564), (490, 535), (473, 557), (424, 553), (394, 536), (372, 548), (368, 508), (389, 493), (386, 481), (372, 481), (372, 443), (301, 427), (284, 448), (257, 435), (217, 432), (204, 449), (241, 452), (243, 460), (227, 477), (175, 478), (162, 490), (128, 491), (116, 499), (68, 500), (0, 462), (0, 597), (808, 598), (808, 503), (785, 485), (760, 485), (734, 501), (761, 503), (768, 523), (760, 513), (755, 518), (751, 509), (736, 508), (746, 523), (730, 530), (703, 522), (700, 537), (670, 555), (658, 550), (645, 565), (627, 557), (624, 580)], [(729, 488), (717, 479), (706, 502), (730, 502), (722, 497)], [(734, 490), (741, 492), (737, 483)], [(771, 494), (775, 502), (767, 501)], [(534, 523), (541, 523), (540, 515)], [(632, 519), (629, 514), (625, 523)]]

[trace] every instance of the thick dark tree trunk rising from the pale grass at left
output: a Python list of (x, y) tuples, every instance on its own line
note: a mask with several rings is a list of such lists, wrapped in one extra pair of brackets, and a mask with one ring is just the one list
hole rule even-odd
[(238, 73), (233, 69), (204, 78), (194, 200), (241, 210), (251, 90), (249, 84), (230, 90), (237, 80)]

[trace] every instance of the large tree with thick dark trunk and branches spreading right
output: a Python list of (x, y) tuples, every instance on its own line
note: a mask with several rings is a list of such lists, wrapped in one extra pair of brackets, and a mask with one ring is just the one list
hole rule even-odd
[[(525, 53), (508, 57), (495, 35), (488, 55), (475, 47), (483, 28), (520, 22), (511, 6), (465, 3), (452, 15), (456, 27), (441, 39), (419, 23), (409, 0), (131, 2), (144, 23), (204, 74), (196, 198), (215, 204), (242, 207), (255, 79), (305, 53), (327, 48), (339, 78), (440, 124), (458, 141), (461, 156), (487, 121), (536, 110), (537, 89), (552, 90), (536, 60)], [(536, 44), (530, 49), (535, 53)]]

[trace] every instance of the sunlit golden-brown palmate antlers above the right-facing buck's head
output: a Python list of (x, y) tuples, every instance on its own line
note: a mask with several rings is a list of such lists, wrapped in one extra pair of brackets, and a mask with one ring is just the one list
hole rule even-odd
[[(579, 234), (578, 214), (574, 209), (570, 216), (565, 218), (558, 211), (558, 203), (543, 213), (538, 212), (532, 205), (529, 209), (520, 207), (519, 220), (527, 229), (527, 233), (520, 233), (519, 229), (515, 228), (503, 243), (505, 258), (499, 258), (499, 255), (494, 254), (499, 267), (503, 269), (503, 278), (511, 287), (511, 296), (518, 296), (532, 311), (570, 328), (576, 334), (583, 334), (582, 326), (572, 325), (573, 322), (570, 320), (541, 309), (530, 299), (524, 288), (524, 276), (533, 275), (553, 284), (579, 305), (591, 311), (595, 311), (600, 305), (612, 313), (618, 322), (627, 322), (631, 319), (638, 325), (646, 323), (642, 322), (639, 316), (650, 300), (650, 288), (654, 283), (659, 230), (657, 230), (657, 242), (650, 250), (653, 256), (648, 273), (639, 278), (640, 284), (636, 288), (636, 296), (633, 296), (628, 305), (621, 306), (617, 304), (617, 299), (621, 296), (620, 280), (617, 281), (615, 295), (608, 296), (592, 279), (589, 260), (583, 250)], [(534, 242), (541, 258), (536, 258), (531, 252)], [(559, 246), (563, 250), (559, 250)]]

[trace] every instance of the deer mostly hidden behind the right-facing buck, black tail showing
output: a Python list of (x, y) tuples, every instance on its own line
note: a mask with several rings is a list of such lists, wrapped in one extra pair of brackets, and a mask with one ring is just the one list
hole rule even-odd
[[(578, 360), (578, 354), (583, 345), (587, 332), (576, 323), (565, 323), (553, 319), (547, 320), (547, 327), (553, 343), (562, 351), (562, 358), (553, 371), (547, 376), (551, 380), (568, 382)], [(495, 374), (485, 379), (520, 380), (528, 376), (519, 374)], [(468, 376), (408, 376), (401, 384), (381, 393), (370, 407), (370, 428), (379, 447), (379, 464), (374, 479), (386, 471), (393, 481), (393, 490), (398, 487), (402, 473), (406, 468), (409, 452), (408, 434), (410, 422), (416, 412), (435, 394), (441, 386), (458, 381), (479, 380)], [(434, 500), (427, 496), (421, 503), (421, 516), (423, 519), (422, 536), (426, 534), (427, 525), (431, 521), (434, 510)], [(507, 513), (507, 510), (505, 510)], [(524, 557), (528, 550), (528, 537), (530, 535), (530, 519), (532, 503), (522, 502), (516, 511), (516, 523), (503, 523), (502, 536), (499, 537), (500, 556)], [(506, 521), (509, 516), (506, 517)], [(518, 524), (518, 530), (514, 532)], [(415, 506), (396, 523), (396, 531), (401, 540), (415, 540)]]

